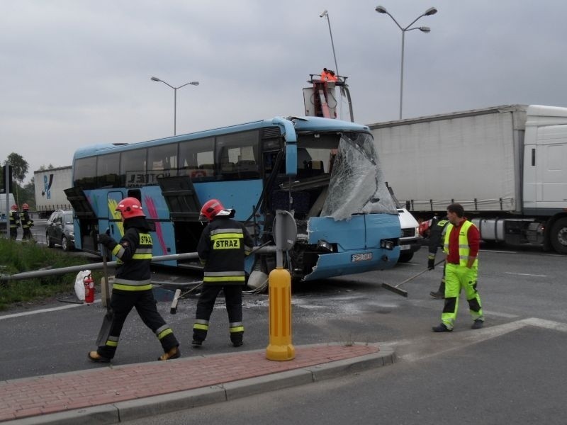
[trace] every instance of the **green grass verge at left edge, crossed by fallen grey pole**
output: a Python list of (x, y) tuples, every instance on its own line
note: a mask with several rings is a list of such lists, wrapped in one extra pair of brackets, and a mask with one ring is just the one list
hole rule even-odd
[[(84, 257), (48, 249), (47, 246), (35, 242), (15, 242), (0, 237), (0, 273), (3, 275), (39, 271), (41, 268), (81, 265), (87, 269), (89, 261)], [(7, 310), (13, 305), (26, 302), (74, 293), (76, 276), (77, 272), (25, 280), (3, 280), (0, 282), (0, 310)], [(93, 278), (97, 281), (100, 276), (93, 272)]]

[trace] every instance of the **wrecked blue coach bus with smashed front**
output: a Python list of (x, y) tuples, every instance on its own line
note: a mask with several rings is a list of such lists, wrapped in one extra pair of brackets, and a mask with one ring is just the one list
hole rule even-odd
[[(78, 149), (73, 187), (77, 249), (101, 254), (96, 234), (123, 227), (115, 208), (141, 201), (157, 255), (195, 252), (210, 198), (236, 210), (258, 246), (274, 244), (277, 210), (291, 212), (298, 236), (286, 253), (294, 280), (391, 268), (400, 222), (368, 127), (328, 118), (259, 120), (133, 144)], [(193, 261), (168, 266), (199, 268)], [(276, 254), (251, 255), (247, 273), (269, 273)]]

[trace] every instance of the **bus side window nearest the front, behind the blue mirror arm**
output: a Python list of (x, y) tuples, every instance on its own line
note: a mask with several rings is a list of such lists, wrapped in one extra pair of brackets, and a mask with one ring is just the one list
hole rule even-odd
[(217, 137), (217, 157), (221, 170), (230, 170), (223, 178), (259, 179), (258, 130)]

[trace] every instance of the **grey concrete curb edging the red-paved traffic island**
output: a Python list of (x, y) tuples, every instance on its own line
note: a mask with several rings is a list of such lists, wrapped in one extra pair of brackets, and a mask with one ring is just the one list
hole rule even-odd
[[(313, 344), (313, 346), (330, 346), (337, 344)], [(322, 363), (320, 365), (313, 365), (307, 368), (291, 369), (255, 378), (226, 382), (223, 385), (201, 387), (166, 395), (104, 404), (85, 409), (69, 410), (67, 412), (30, 416), (23, 419), (4, 421), (2, 425), (118, 424), (120, 421), (131, 421), (147, 416), (191, 409), (193, 407), (226, 402), (259, 393), (338, 378), (339, 376), (344, 376), (349, 373), (393, 364), (396, 361), (393, 348), (381, 344), (354, 343), (354, 345), (359, 344), (371, 346), (380, 345), (380, 349), (376, 353), (371, 353), (366, 356), (347, 358)]]

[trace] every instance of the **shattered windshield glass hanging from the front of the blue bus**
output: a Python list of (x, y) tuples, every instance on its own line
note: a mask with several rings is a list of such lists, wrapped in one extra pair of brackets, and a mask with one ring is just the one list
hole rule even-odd
[(348, 220), (353, 214), (368, 212), (396, 214), (397, 210), (372, 136), (364, 132), (344, 133), (332, 164), (329, 193), (321, 216)]

